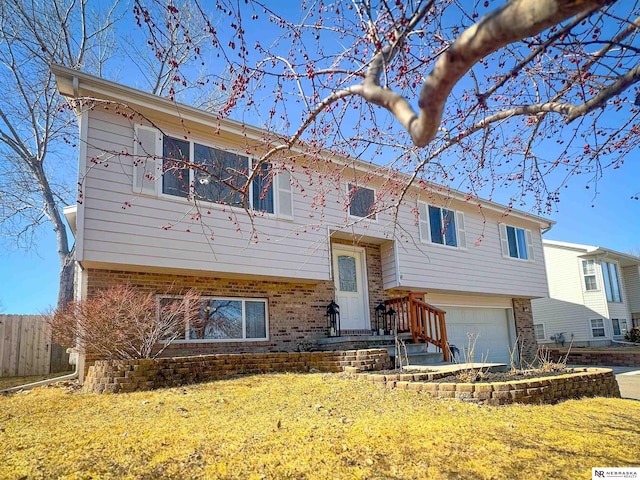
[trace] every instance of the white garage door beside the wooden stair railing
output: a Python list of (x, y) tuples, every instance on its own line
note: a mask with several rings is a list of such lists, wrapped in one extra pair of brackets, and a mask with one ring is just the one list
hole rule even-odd
[(465, 360), (464, 352), (469, 349), (469, 336), (473, 335), (473, 361), (509, 363), (511, 340), (507, 309), (444, 306), (440, 308), (447, 312), (447, 338), (449, 343), (460, 349), (460, 361)]

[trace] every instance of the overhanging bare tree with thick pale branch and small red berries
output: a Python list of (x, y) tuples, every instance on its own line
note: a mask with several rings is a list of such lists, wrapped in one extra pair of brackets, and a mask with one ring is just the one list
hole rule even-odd
[[(597, 188), (638, 146), (636, 1), (194, 3), (229, 94), (219, 113), (283, 135), (263, 160), (330, 147), (424, 188), (491, 198), (508, 186), (510, 205), (533, 197), (548, 212), (570, 178)], [(386, 196), (401, 201), (398, 188)]]

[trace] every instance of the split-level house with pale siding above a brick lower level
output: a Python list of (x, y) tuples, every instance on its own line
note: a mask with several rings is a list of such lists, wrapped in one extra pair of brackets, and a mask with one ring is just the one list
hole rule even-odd
[[(398, 299), (409, 293), (425, 314), (446, 311), (446, 336), (423, 340), (464, 350), (475, 334), (476, 360), (508, 361), (516, 338), (535, 352), (531, 299), (547, 295), (541, 232), (553, 222), (426, 183), (407, 190), (396, 214), (383, 207), (390, 185), (406, 186), (397, 173), (305, 146), (256, 171), (279, 141), (266, 131), (53, 73), (80, 128), (79, 202), (67, 212), (78, 297), (128, 282), (162, 302), (196, 287), (225, 310), (229, 328), (185, 326), (167, 354), (315, 348), (332, 334), (331, 301), (342, 337), (371, 338), (382, 301), (407, 325)], [(234, 186), (249, 175), (243, 196)]]

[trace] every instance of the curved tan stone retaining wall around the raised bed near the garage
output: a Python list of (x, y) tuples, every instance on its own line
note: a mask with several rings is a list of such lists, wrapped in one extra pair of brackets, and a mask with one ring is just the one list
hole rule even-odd
[(618, 382), (611, 369), (589, 368), (583, 372), (567, 373), (555, 377), (514, 380), (496, 383), (435, 383), (429, 380), (443, 378), (448, 373), (414, 373), (400, 375), (382, 375), (358, 373), (347, 368), (348, 373), (356, 374), (371, 382), (387, 388), (400, 388), (428, 393), (437, 398), (454, 398), (489, 405), (510, 403), (555, 403), (559, 400), (579, 397), (615, 397), (620, 398)]

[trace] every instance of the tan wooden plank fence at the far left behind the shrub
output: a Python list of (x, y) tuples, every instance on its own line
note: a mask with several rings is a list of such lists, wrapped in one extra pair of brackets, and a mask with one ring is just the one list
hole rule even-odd
[(0, 315), (0, 377), (70, 370), (69, 355), (51, 340), (40, 315)]

